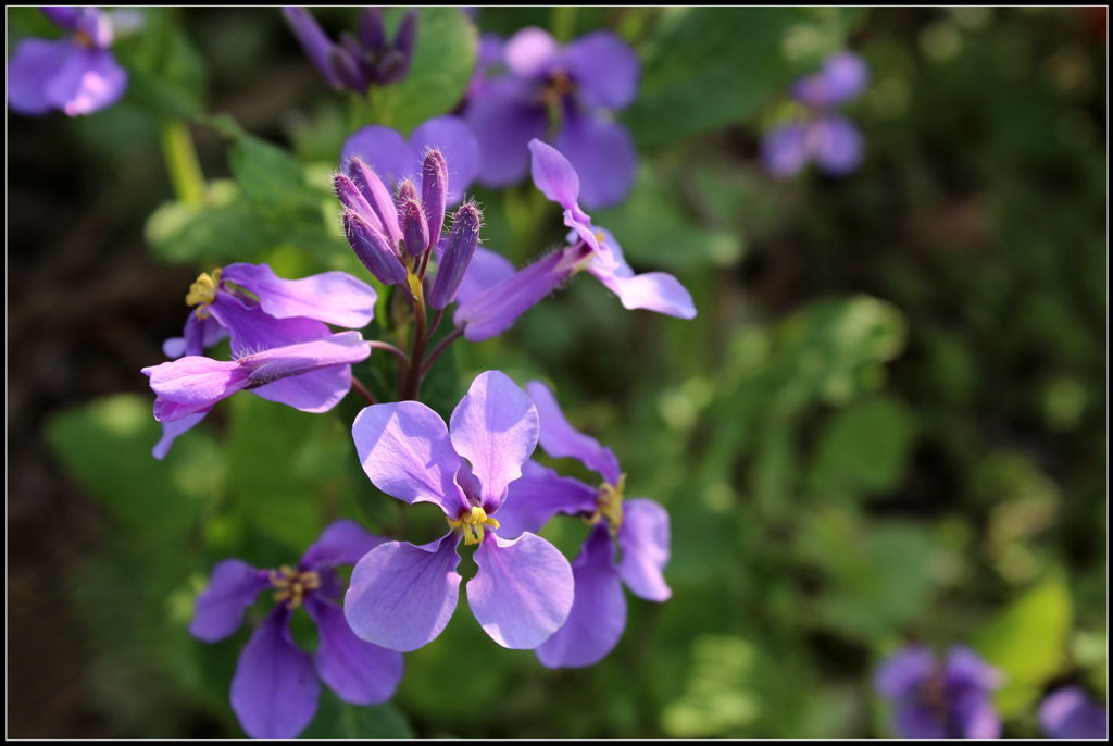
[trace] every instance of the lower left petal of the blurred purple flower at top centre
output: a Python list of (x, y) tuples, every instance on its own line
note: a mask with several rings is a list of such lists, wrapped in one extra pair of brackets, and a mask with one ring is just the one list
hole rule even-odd
[(480, 144), (480, 183), (489, 187), (520, 181), (530, 165), (530, 140), (544, 137), (549, 127), (549, 112), (529, 87), (505, 78), (485, 86), (464, 118)]

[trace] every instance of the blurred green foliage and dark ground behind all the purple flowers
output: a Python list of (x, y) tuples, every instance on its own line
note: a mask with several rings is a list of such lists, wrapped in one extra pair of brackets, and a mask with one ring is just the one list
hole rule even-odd
[[(227, 689), (248, 629), (186, 631), (211, 566), (277, 566), (337, 517), (383, 532), (396, 517), (356, 463), (355, 402), (326, 416), (235, 397), (150, 457), (139, 369), (180, 333), (198, 271), (362, 268), (328, 202), (346, 102), (278, 10), (144, 13), (115, 49), (162, 77), (134, 75), (92, 116), (7, 120), (12, 737), (243, 735)], [(314, 13), (355, 28), (357, 9)], [(472, 21), (424, 13), (418, 55), (451, 67), (452, 42), (429, 39), (466, 43)], [(57, 36), (35, 9), (8, 21), (9, 58)], [(674, 595), (628, 595), (622, 641), (583, 670), (457, 612), (406, 656), (392, 704), (325, 691), (305, 735), (884, 737), (871, 676), (914, 640), (974, 646), (1005, 674), (1006, 737), (1040, 735), (1056, 686), (1104, 701), (1105, 9), (484, 8), (474, 23), (610, 28), (638, 51), (620, 116), (637, 185), (593, 217), (639, 272), (680, 277), (699, 316), (628, 313), (575, 282), (506, 335), (457, 343), (430, 396), (451, 409), (489, 367), (550, 381), (628, 494), (669, 510)], [(759, 147), (789, 84), (844, 48), (871, 71), (844, 109), (861, 166), (771, 179)], [(193, 127), (206, 210), (174, 202), (151, 111), (259, 138)], [(280, 209), (237, 168), (253, 153), (268, 176), (301, 164), (319, 209)], [(515, 263), (560, 242), (531, 185), (475, 194), (484, 244)], [(546, 536), (571, 557), (583, 530)]]

